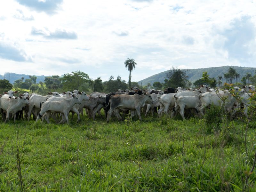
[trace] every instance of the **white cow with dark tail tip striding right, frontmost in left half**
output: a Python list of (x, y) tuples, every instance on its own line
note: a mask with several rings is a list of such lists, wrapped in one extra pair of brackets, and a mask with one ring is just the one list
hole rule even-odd
[[(51, 115), (51, 113), (62, 113), (67, 123), (69, 123), (68, 113), (75, 104), (81, 104), (81, 101), (75, 95), (73, 95), (73, 97), (70, 99), (64, 98), (61, 101), (44, 101), (42, 103), (41, 111), (36, 118), (36, 121), (38, 121), (44, 113), (47, 113), (47, 115), (45, 116), (45, 120), (47, 123), (50, 123), (49, 116)], [(62, 121), (60, 121), (59, 123), (62, 123)]]

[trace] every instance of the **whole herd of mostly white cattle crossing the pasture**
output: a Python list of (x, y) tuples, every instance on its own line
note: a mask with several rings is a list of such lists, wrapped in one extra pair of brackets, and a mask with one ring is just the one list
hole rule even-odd
[(97, 113), (101, 116), (100, 110), (103, 108), (107, 122), (109, 122), (113, 114), (121, 121), (122, 116), (126, 116), (128, 112), (131, 117), (138, 115), (140, 120), (142, 120), (141, 112), (147, 116), (149, 111), (152, 116), (157, 113), (159, 117), (163, 113), (167, 116), (171, 114), (172, 117), (179, 113), (183, 119), (185, 119), (185, 113), (201, 116), (205, 114), (205, 108), (211, 105), (221, 105), (224, 97), (226, 98), (225, 108), (231, 116), (235, 116), (239, 108), (244, 108), (244, 115), (248, 117), (250, 98), (252, 94), (255, 94), (255, 86), (246, 85), (242, 88), (233, 87), (230, 90), (224, 90), (200, 85), (198, 89), (168, 87), (164, 91), (140, 90), (132, 87), (130, 90), (118, 89), (108, 94), (92, 92), (90, 95), (78, 90), (62, 93), (49, 92), (46, 96), (24, 93), (15, 97), (13, 96), (15, 93), (18, 91), (10, 90), (0, 95), (1, 116), (3, 120), (5, 119), (5, 123), (10, 117), (13, 117), (15, 122), (16, 117), (29, 121), (31, 116), (36, 121), (42, 119), (43, 122), (45, 119), (47, 123), (50, 123), (49, 117), (52, 117), (56, 123), (68, 123), (70, 112), (72, 118), (76, 113), (77, 121), (80, 121), (80, 115), (84, 115), (84, 108), (93, 120)]

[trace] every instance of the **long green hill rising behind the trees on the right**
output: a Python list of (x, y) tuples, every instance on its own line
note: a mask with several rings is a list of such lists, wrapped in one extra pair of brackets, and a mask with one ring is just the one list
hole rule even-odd
[[(252, 75), (254, 74), (256, 68), (253, 67), (237, 67), (237, 66), (222, 66), (222, 67), (211, 67), (211, 68), (200, 68), (200, 69), (184, 69), (188, 76), (188, 80), (190, 82), (195, 82), (197, 79), (200, 79), (202, 77), (202, 74), (204, 71), (208, 72), (208, 75), (210, 75), (210, 77), (215, 77), (216, 79), (218, 79), (218, 76), (222, 76), (223, 78), (223, 82), (224, 82), (224, 75), (223, 73), (228, 72), (228, 68), (229, 67), (234, 67), (234, 69), (236, 69), (236, 72), (240, 74), (240, 79), (246, 75), (246, 73), (252, 73)], [(148, 83), (150, 83), (151, 85), (156, 82), (159, 81), (160, 83), (164, 82), (164, 79), (166, 78), (166, 73), (168, 71), (164, 71), (161, 73), (158, 73), (156, 75), (150, 76), (146, 79), (143, 79), (141, 81), (138, 82), (138, 84), (147, 85)]]

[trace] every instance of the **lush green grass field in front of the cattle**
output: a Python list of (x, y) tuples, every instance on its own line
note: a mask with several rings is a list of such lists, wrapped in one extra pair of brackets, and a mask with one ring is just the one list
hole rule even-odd
[[(142, 117), (143, 118), (143, 117)], [(107, 124), (0, 123), (0, 191), (241, 191), (249, 174), (255, 122), (228, 123), (228, 136), (203, 120), (143, 118)], [(246, 190), (256, 191), (255, 171)]]

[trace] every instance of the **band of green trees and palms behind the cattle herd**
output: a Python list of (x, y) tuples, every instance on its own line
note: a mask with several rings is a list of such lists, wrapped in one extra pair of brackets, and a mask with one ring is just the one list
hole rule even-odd
[[(129, 81), (126, 83), (121, 76), (117, 76), (116, 79), (114, 76), (110, 76), (107, 81), (102, 81), (100, 77), (92, 79), (88, 74), (82, 71), (72, 71), (71, 73), (64, 74), (62, 76), (53, 75), (45, 77), (44, 81), (36, 83), (36, 76), (29, 76), (28, 79), (17, 79), (12, 85), (8, 80), (0, 80), (0, 91), (8, 91), (14, 88), (15, 90), (24, 90), (37, 92), (39, 94), (47, 94), (49, 91), (62, 92), (64, 90), (80, 90), (85, 92), (115, 92), (116, 89), (129, 89), (130, 87), (138, 87), (140, 89), (154, 88), (156, 90), (163, 90), (167, 87), (197, 87), (200, 84), (206, 84), (210, 87), (223, 86), (226, 84), (236, 84), (236, 85), (245, 85), (245, 84), (256, 84), (256, 71), (252, 76), (252, 73), (247, 73), (245, 76), (240, 78), (240, 74), (236, 72), (236, 69), (230, 67), (226, 73), (223, 73), (223, 76), (218, 76), (218, 79), (210, 77), (207, 71), (204, 71), (202, 77), (196, 80), (193, 84), (188, 80), (186, 75), (186, 70), (175, 69), (172, 67), (167, 73), (164, 83), (154, 82), (152, 85), (148, 83), (145, 86), (139, 85), (137, 82), (131, 81), (131, 72), (137, 65), (134, 59), (129, 59), (124, 61), (125, 68), (129, 71)], [(223, 84), (223, 81), (225, 81)], [(241, 81), (241, 82), (240, 82)]]

